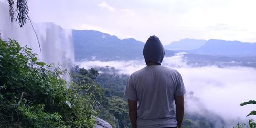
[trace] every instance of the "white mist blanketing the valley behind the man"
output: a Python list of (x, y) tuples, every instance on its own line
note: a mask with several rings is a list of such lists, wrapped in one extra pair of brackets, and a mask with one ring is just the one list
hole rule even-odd
[[(248, 118), (256, 119), (255, 116), (246, 117), (255, 109), (253, 105), (240, 106), (240, 103), (253, 100), (256, 96), (255, 68), (215, 65), (193, 67), (186, 64), (184, 54), (165, 57), (162, 65), (174, 68), (182, 75), (187, 90), (186, 112), (208, 115), (207, 111), (210, 111), (221, 116), (228, 127), (234, 126), (238, 118), (241, 122), (247, 122)], [(118, 73), (129, 75), (146, 66), (144, 60), (80, 61), (75, 64), (87, 69), (111, 66)]]

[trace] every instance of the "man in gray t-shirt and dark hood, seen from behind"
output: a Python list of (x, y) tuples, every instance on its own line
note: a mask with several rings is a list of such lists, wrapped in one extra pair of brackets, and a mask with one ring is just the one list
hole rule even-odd
[(143, 49), (147, 66), (129, 77), (124, 95), (133, 128), (181, 127), (186, 89), (176, 70), (161, 66), (164, 53), (158, 37), (150, 36)]

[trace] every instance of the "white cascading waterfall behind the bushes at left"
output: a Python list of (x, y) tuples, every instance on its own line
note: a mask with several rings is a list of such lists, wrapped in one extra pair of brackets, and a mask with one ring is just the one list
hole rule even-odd
[[(38, 45), (37, 37), (29, 20), (20, 28), (17, 22), (11, 23), (9, 18), (9, 6), (0, 2), (0, 35), (4, 41), (15, 39), (21, 46), (27, 45), (36, 53), (39, 61), (53, 63), (56, 67), (68, 69), (69, 65), (74, 63), (74, 50), (72, 42), (72, 31), (61, 28), (54, 23), (34, 24), (38, 36), (41, 51)], [(69, 75), (66, 73), (63, 78), (69, 81)]]

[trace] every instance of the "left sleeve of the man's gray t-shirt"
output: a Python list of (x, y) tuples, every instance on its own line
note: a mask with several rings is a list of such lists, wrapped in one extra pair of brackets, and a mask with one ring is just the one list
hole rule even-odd
[(132, 75), (129, 77), (129, 80), (127, 82), (127, 86), (126, 86), (126, 89), (125, 89), (124, 96), (127, 99), (130, 99), (130, 100), (133, 100), (133, 101), (138, 100), (136, 90), (135, 90), (135, 87), (133, 85)]

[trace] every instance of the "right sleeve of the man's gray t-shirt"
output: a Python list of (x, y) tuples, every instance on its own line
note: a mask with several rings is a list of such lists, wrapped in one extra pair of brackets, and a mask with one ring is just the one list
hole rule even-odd
[(182, 96), (182, 95), (186, 94), (186, 88), (184, 86), (182, 76), (180, 75), (180, 73), (178, 71), (176, 71), (176, 72), (177, 72), (177, 85), (176, 85), (176, 89), (175, 89), (175, 95)]

